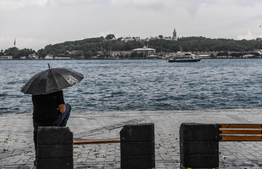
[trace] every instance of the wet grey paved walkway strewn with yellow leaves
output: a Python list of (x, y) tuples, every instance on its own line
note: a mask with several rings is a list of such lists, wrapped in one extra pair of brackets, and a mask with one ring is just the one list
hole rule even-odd
[[(75, 138), (117, 138), (123, 125), (155, 124), (156, 168), (180, 168), (179, 126), (262, 123), (261, 109), (202, 111), (71, 112)], [(171, 134), (171, 135), (169, 135)], [(220, 142), (220, 168), (262, 168), (262, 142)], [(32, 114), (0, 115), (0, 168), (34, 169)], [(226, 156), (226, 159), (224, 159)], [(75, 145), (75, 168), (120, 168), (120, 143)]]

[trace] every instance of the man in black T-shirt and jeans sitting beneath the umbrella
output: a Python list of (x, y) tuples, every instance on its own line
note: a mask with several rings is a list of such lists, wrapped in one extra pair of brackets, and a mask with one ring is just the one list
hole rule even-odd
[[(33, 126), (34, 126), (34, 148), (37, 163), (37, 128), (39, 126), (65, 127), (70, 116), (71, 106), (65, 103), (63, 91), (48, 94), (32, 95), (33, 102)], [(48, 139), (48, 138), (47, 138)]]

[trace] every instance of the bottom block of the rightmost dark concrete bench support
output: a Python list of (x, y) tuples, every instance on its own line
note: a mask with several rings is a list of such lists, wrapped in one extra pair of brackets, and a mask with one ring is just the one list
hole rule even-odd
[(217, 168), (219, 167), (218, 154), (180, 154), (181, 164), (185, 168)]

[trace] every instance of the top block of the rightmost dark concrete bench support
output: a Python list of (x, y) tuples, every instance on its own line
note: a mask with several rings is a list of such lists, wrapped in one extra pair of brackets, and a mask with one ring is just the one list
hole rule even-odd
[(184, 141), (215, 141), (215, 124), (182, 123), (179, 138)]

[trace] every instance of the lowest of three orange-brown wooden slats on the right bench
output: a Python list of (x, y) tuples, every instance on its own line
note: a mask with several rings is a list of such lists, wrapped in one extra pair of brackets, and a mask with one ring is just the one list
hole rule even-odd
[(219, 141), (262, 141), (262, 135), (220, 135)]

